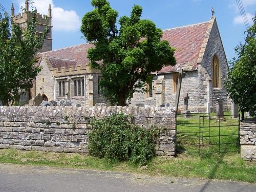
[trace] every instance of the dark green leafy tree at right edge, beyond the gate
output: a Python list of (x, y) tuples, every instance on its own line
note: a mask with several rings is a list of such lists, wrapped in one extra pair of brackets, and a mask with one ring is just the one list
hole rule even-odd
[(237, 58), (230, 61), (225, 88), (242, 112), (256, 116), (256, 16), (247, 30), (245, 44), (236, 47)]

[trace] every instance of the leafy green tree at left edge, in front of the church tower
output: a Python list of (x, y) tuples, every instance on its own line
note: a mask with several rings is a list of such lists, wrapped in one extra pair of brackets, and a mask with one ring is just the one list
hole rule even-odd
[(0, 4), (0, 101), (13, 104), (20, 90), (31, 87), (32, 80), (40, 72), (34, 63), (38, 50), (49, 32), (46, 27), (41, 36), (36, 35), (36, 9), (26, 29), (15, 24)]

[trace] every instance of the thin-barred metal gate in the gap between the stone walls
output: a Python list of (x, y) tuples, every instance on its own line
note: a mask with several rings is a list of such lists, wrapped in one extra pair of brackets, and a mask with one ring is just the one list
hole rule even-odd
[(240, 152), (240, 115), (176, 114), (177, 152), (206, 156)]

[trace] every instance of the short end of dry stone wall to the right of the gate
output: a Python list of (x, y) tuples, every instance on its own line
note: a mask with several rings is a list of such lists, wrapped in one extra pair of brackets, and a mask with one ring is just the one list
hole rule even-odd
[(245, 160), (256, 161), (256, 123), (241, 122), (241, 156)]

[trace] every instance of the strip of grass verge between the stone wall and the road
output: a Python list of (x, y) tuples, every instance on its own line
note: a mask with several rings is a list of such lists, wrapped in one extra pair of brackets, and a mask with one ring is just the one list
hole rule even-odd
[(54, 167), (109, 170), (154, 176), (201, 179), (223, 179), (256, 183), (256, 163), (244, 161), (240, 154), (200, 158), (179, 155), (178, 158), (156, 157), (146, 166), (130, 162), (108, 161), (89, 155), (36, 151), (0, 150), (0, 163), (32, 164)]

